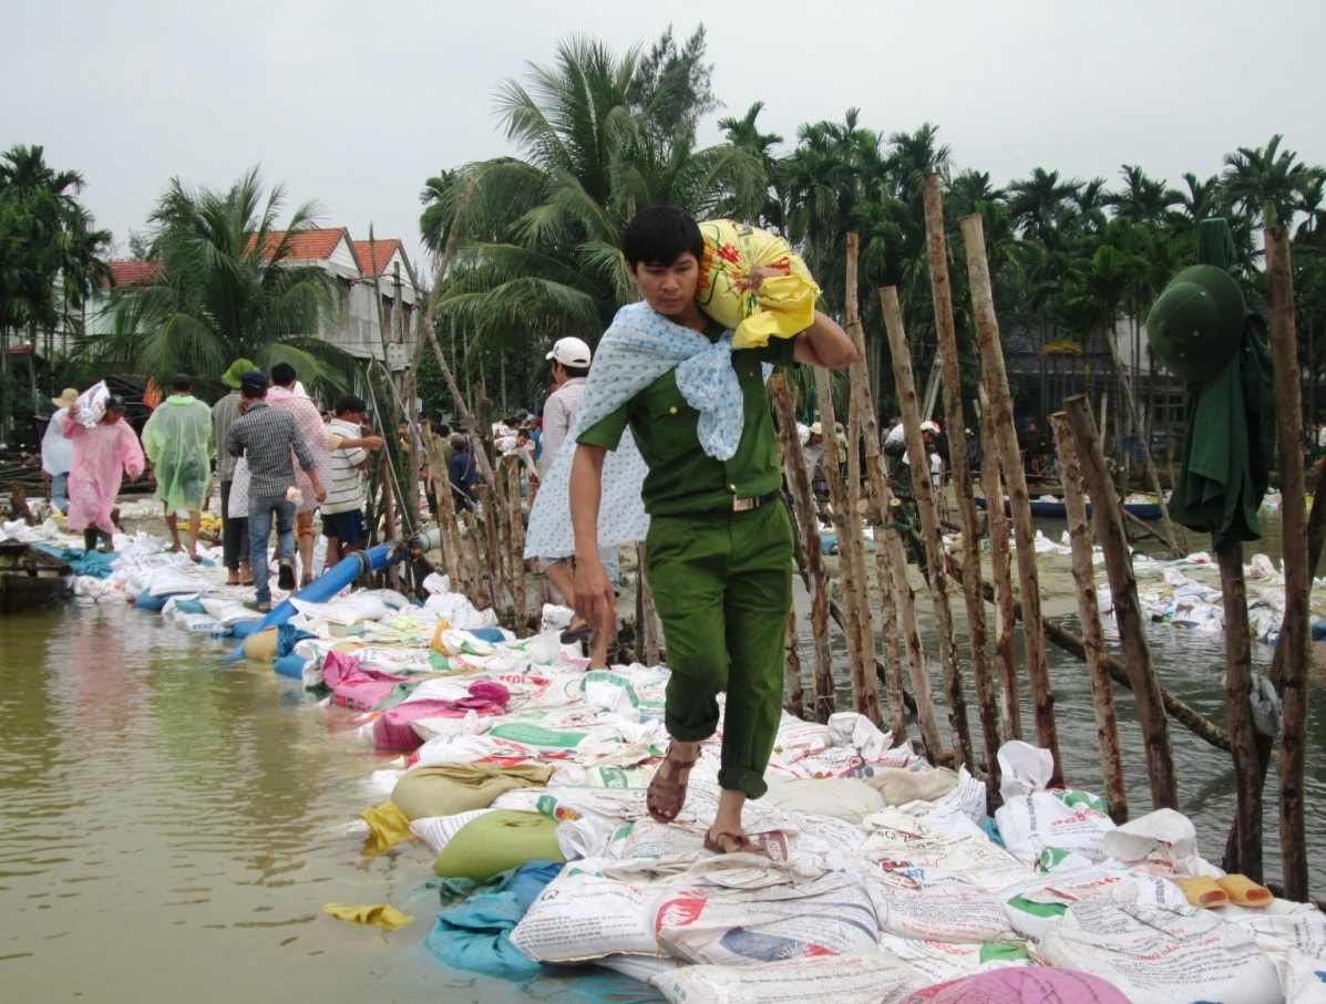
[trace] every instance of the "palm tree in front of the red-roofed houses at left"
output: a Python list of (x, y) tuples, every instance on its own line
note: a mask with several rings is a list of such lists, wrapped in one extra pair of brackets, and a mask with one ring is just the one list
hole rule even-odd
[(296, 234), (316, 228), (317, 207), (300, 205), (278, 224), (284, 201), (281, 185), (264, 195), (257, 167), (227, 191), (172, 179), (149, 216), (159, 268), (147, 285), (113, 293), (113, 331), (88, 348), (159, 377), (220, 374), (243, 356), (343, 387), (349, 358), (317, 335), (335, 307), (335, 279), (288, 264)]

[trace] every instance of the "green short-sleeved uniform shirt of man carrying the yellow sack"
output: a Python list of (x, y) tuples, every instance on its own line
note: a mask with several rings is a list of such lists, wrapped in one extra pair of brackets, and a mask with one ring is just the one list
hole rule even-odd
[[(711, 322), (704, 335), (717, 342), (723, 328)], [(700, 449), (696, 432), (700, 412), (687, 404), (678, 389), (675, 370), (582, 432), (577, 442), (617, 449), (622, 432), (630, 425), (635, 445), (650, 469), (640, 493), (644, 511), (650, 515), (731, 510), (733, 498), (777, 491), (782, 470), (761, 363), (790, 363), (793, 342), (790, 338), (770, 338), (764, 348), (732, 352), (745, 424), (741, 442), (731, 460), (716, 460)]]

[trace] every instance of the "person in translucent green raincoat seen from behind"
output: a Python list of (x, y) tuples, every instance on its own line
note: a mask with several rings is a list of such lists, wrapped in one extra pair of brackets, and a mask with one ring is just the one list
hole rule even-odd
[(184, 550), (176, 522), (183, 509), (188, 513), (188, 556), (196, 562), (203, 507), (212, 481), (212, 409), (192, 389), (192, 377), (176, 374), (170, 397), (156, 405), (143, 427), (142, 440), (156, 477), (155, 497), (166, 513), (172, 550)]

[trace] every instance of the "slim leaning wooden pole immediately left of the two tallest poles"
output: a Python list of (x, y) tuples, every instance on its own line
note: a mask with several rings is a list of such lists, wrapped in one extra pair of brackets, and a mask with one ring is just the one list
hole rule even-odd
[(884, 311), (888, 350), (894, 358), (894, 383), (898, 387), (898, 400), (902, 405), (907, 462), (911, 465), (912, 489), (920, 509), (926, 563), (930, 566), (930, 596), (935, 616), (935, 633), (939, 636), (939, 661), (943, 669), (944, 691), (948, 698), (948, 725), (953, 732), (953, 748), (960, 762), (975, 775), (977, 770), (976, 759), (972, 756), (971, 726), (967, 722), (967, 694), (957, 669), (957, 644), (953, 640), (953, 615), (948, 600), (948, 562), (940, 538), (935, 493), (930, 482), (930, 460), (926, 456), (926, 442), (920, 433), (920, 408), (916, 403), (916, 384), (912, 381), (911, 354), (907, 351), (907, 334), (903, 330), (903, 311), (898, 302), (898, 290), (894, 286), (882, 289), (879, 301)]

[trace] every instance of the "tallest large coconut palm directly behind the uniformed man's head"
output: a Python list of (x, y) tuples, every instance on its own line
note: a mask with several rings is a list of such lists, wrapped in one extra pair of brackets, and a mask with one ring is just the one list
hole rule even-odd
[(562, 42), (550, 66), (530, 65), (499, 87), (499, 115), (521, 155), (430, 183), (424, 225), (435, 246), (438, 219), (450, 219), (442, 207), (460, 179), (473, 183), (438, 303), (439, 319), (467, 332), (469, 354), (528, 356), (529, 343), (566, 334), (593, 344), (635, 297), (621, 234), (638, 209), (749, 217), (764, 204), (758, 156), (733, 144), (696, 150), (693, 117), (680, 114), (708, 94), (703, 36), (682, 54), (660, 46), (646, 58), (639, 46), (617, 57), (590, 38)]

